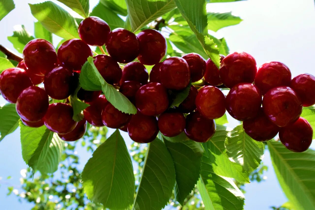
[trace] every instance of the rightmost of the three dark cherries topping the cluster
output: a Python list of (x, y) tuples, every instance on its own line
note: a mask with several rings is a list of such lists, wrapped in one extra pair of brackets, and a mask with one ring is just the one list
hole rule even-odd
[(138, 33), (140, 53), (139, 61), (144, 65), (154, 65), (166, 54), (166, 39), (154, 29), (146, 29)]

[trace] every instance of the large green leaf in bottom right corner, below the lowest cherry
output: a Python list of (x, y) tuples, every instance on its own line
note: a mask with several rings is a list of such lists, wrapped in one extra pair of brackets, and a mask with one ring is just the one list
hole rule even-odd
[(285, 195), (295, 209), (315, 209), (315, 151), (295, 153), (280, 142), (267, 142), (272, 165)]

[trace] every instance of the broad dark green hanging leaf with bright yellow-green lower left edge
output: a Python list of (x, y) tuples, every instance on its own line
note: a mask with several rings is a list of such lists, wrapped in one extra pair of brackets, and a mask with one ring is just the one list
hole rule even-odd
[(116, 130), (93, 153), (82, 172), (84, 192), (95, 203), (109, 209), (132, 204), (135, 176), (126, 144)]

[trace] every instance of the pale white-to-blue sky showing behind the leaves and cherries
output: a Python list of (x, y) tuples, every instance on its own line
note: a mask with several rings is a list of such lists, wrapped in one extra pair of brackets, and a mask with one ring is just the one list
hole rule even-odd
[[(14, 31), (13, 26), (23, 24), (29, 32), (33, 32), (35, 18), (31, 15), (27, 3), (39, 3), (44, 0), (14, 0), (16, 9), (0, 22), (0, 43), (14, 50), (7, 41)], [(62, 5), (61, 3), (52, 0)], [(90, 0), (93, 8), (98, 1)], [(301, 3), (303, 2), (303, 3)], [(68, 11), (70, 9), (66, 8)], [(235, 3), (209, 4), (207, 11), (230, 12), (243, 19), (237, 26), (226, 27), (218, 32), (210, 32), (217, 38), (225, 37), (230, 51), (245, 51), (253, 55), (260, 66), (267, 61), (281, 61), (291, 70), (292, 76), (301, 73), (315, 74), (315, 7), (313, 0), (248, 0)], [(54, 37), (57, 44), (60, 38)], [(0, 96), (1, 97), (1, 96)], [(0, 98), (0, 103), (5, 103)], [(237, 124), (230, 120), (230, 126)], [(131, 143), (126, 133), (122, 132), (127, 146)], [(314, 147), (314, 143), (312, 144)], [(81, 166), (83, 167), (91, 154), (78, 150)], [(246, 184), (245, 209), (264, 210), (270, 206), (280, 206), (287, 201), (279, 187), (277, 178), (272, 170), (269, 152), (266, 151), (263, 162), (269, 166), (265, 173), (266, 180), (261, 183)], [(6, 196), (7, 186), (20, 186), (20, 170), (25, 169), (21, 156), (19, 130), (8, 135), (0, 143), (0, 203), (1, 209), (30, 209), (32, 205), (19, 203), (17, 197)], [(12, 176), (7, 180), (8, 176)]]

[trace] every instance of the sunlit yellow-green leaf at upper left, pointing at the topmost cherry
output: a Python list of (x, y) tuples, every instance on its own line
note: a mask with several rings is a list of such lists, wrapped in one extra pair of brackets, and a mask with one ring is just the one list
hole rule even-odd
[(50, 32), (65, 39), (79, 38), (76, 20), (57, 4), (29, 4), (32, 15)]

